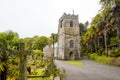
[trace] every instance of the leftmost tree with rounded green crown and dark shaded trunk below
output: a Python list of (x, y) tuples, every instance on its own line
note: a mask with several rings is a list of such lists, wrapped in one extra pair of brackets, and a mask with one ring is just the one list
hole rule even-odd
[(6, 80), (7, 72), (8, 72), (8, 55), (10, 55), (10, 51), (14, 49), (16, 43), (18, 42), (18, 34), (12, 31), (7, 31), (0, 33), (0, 45), (1, 45), (1, 62), (4, 70), (1, 71), (0, 80)]

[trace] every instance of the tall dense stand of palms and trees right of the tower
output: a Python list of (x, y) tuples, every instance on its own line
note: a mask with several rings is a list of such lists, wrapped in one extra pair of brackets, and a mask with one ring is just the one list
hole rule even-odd
[(101, 11), (87, 31), (81, 33), (82, 53), (98, 53), (119, 57), (120, 0), (100, 0)]

